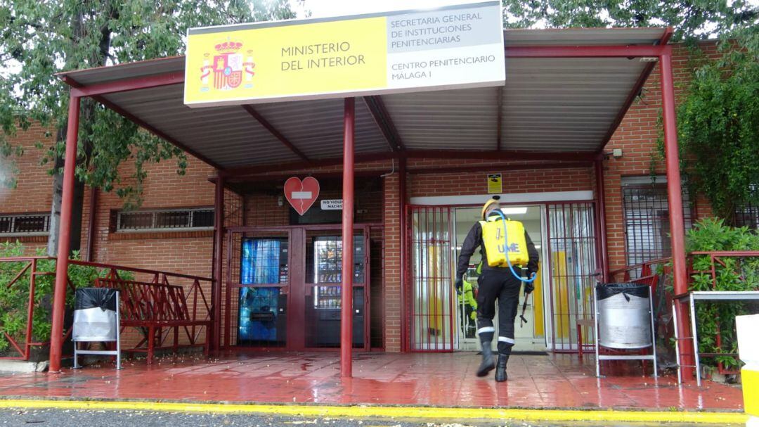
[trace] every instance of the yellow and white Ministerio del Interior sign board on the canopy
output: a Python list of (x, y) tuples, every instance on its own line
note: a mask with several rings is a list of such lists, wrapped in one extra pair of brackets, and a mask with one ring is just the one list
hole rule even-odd
[(498, 86), (500, 2), (187, 32), (184, 103), (221, 106)]

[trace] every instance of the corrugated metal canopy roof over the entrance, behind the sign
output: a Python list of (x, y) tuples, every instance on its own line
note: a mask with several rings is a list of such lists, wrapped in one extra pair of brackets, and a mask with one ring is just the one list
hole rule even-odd
[[(665, 31), (505, 30), (504, 34), (507, 48), (651, 46), (660, 43)], [(386, 122), (395, 128), (405, 150), (594, 153), (608, 141), (647, 68), (647, 62), (627, 58), (507, 58), (505, 64), (504, 87), (374, 98), (384, 105), (380, 110), (389, 116)], [(184, 57), (63, 75), (69, 83), (86, 87), (176, 72), (184, 72)], [(183, 88), (172, 84), (110, 93), (102, 99), (222, 169), (342, 156), (342, 100), (256, 104), (254, 112), (262, 122), (243, 106), (188, 108)], [(373, 115), (376, 103), (368, 101), (356, 103), (356, 153), (389, 153), (393, 142)]]

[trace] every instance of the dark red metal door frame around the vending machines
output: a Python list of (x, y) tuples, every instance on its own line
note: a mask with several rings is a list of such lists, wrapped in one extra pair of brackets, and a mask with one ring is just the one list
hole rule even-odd
[[(358, 349), (359, 351), (370, 351), (371, 339), (371, 304), (370, 304), (370, 230), (372, 228), (383, 228), (382, 223), (356, 223), (354, 224), (354, 232), (361, 231), (364, 235), (364, 346)], [(235, 349), (236, 351), (272, 351), (272, 350), (286, 350), (286, 351), (339, 351), (339, 347), (332, 348), (313, 348), (306, 346), (304, 327), (306, 317), (306, 233), (308, 231), (324, 231), (335, 230), (342, 235), (342, 226), (340, 224), (312, 224), (312, 225), (295, 225), (295, 226), (230, 226), (225, 227), (224, 232), (226, 236), (226, 271), (225, 271), (225, 299), (222, 311), (224, 312), (225, 319), (225, 331), (224, 331), (224, 343), (225, 348), (228, 350)], [(235, 245), (235, 234), (241, 235), (240, 245), (245, 239), (244, 234), (247, 232), (272, 232), (280, 233), (282, 237), (286, 234), (288, 239), (288, 279), (286, 283), (280, 283), (279, 287), (287, 295), (287, 309), (285, 311), (286, 321), (286, 335), (285, 346), (238, 346), (231, 345), (231, 329), (237, 327), (238, 319), (232, 319), (231, 307), (232, 307), (232, 294), (238, 293), (238, 289), (243, 286), (250, 286), (250, 284), (232, 283), (232, 270), (235, 260), (232, 259), (234, 251), (231, 250)], [(239, 260), (238, 260), (239, 261)], [(376, 260), (379, 262), (381, 260)], [(240, 264), (242, 267), (242, 264)], [(237, 277), (240, 277), (240, 272), (237, 272)], [(264, 283), (262, 287), (277, 286), (276, 284)], [(256, 285), (254, 285), (256, 286)], [(355, 286), (354, 286), (355, 287)], [(239, 310), (239, 308), (238, 308)], [(239, 315), (239, 312), (238, 312)], [(236, 341), (236, 340), (235, 340)]]

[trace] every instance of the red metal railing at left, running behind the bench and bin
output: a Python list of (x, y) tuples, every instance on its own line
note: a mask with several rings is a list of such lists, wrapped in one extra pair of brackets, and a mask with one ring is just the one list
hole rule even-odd
[[(29, 360), (36, 351), (45, 352), (49, 346), (49, 339), (39, 340), (37, 337), (49, 334), (46, 323), (49, 322), (52, 304), (52, 286), (55, 279), (55, 258), (50, 257), (14, 257), (0, 258), (0, 270), (4, 277), (12, 277), (8, 283), (0, 283), (4, 289), (0, 290), (0, 334), (8, 343), (4, 350), (5, 354), (0, 359)], [(15, 274), (14, 274), (15, 273)], [(121, 317), (130, 312), (125, 310), (124, 303), (141, 304), (150, 306), (158, 318), (177, 318), (194, 321), (194, 325), (187, 325), (187, 343), (200, 345), (200, 341), (206, 340), (207, 331), (211, 324), (212, 308), (206, 295), (210, 295), (210, 287), (213, 280), (208, 277), (191, 276), (188, 274), (176, 274), (160, 270), (148, 270), (144, 268), (124, 267), (113, 264), (101, 264), (85, 261), (70, 261), (68, 270), (68, 293), (67, 305), (74, 299), (75, 283), (80, 286), (109, 286), (113, 287), (125, 283), (140, 282), (144, 293), (134, 294), (132, 297), (121, 301)], [(154, 289), (153, 289), (154, 288)], [(124, 289), (121, 289), (122, 292)], [(165, 290), (166, 292), (161, 292)], [(169, 292), (170, 290), (170, 292)], [(165, 294), (166, 299), (153, 298), (158, 294)], [(169, 295), (169, 293), (171, 295)], [(48, 298), (49, 296), (49, 298)], [(23, 304), (22, 304), (23, 303)], [(20, 305), (24, 305), (26, 313), (18, 312)], [(181, 312), (179, 312), (181, 311)], [(134, 319), (133, 319), (134, 320)], [(23, 323), (23, 328), (19, 324)], [(184, 326), (184, 325), (181, 325)], [(122, 324), (122, 331), (126, 327)], [(165, 334), (159, 329), (159, 343), (166, 337), (171, 329), (166, 328)], [(71, 327), (67, 324), (65, 340), (71, 336)], [(134, 340), (133, 337), (124, 337), (122, 341)], [(147, 351), (148, 335), (143, 334), (142, 339), (137, 337), (136, 347), (145, 347)], [(175, 345), (178, 345), (175, 331)], [(43, 355), (44, 356), (44, 355)]]

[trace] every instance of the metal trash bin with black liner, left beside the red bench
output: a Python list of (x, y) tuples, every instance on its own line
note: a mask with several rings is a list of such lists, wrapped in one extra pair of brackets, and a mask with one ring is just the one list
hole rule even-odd
[[(118, 290), (80, 288), (74, 296), (74, 368), (80, 368), (80, 355), (116, 356), (116, 368), (121, 369), (121, 345)], [(77, 343), (114, 342), (116, 350), (79, 350)]]

